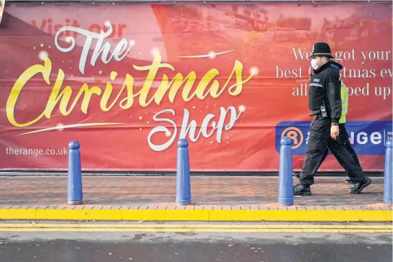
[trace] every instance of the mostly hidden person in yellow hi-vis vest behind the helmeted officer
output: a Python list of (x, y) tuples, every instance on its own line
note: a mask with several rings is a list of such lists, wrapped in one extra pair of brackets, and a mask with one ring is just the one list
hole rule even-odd
[[(340, 71), (340, 67), (337, 66), (337, 64), (331, 63), (331, 67), (334, 67), (335, 69)], [(310, 73), (310, 79), (311, 79), (311, 76), (312, 75)], [(340, 76), (341, 76), (341, 74), (340, 74)], [(347, 88), (342, 80), (341, 80), (340, 93), (341, 93), (340, 95), (341, 95), (341, 100), (342, 100), (342, 112), (341, 112), (340, 120), (338, 121), (339, 134), (337, 136), (337, 141), (339, 143), (341, 143), (342, 145), (344, 145), (345, 149), (353, 157), (353, 159), (356, 161), (356, 163), (358, 163), (360, 165), (359, 158), (357, 158), (357, 154), (356, 154), (355, 150), (353, 149), (352, 145), (350, 145), (349, 134), (346, 131), (346, 127), (345, 127), (346, 114), (348, 112), (348, 106), (349, 106), (349, 96), (348, 96)], [(328, 154), (329, 154), (329, 147), (326, 147), (326, 150), (324, 151), (324, 154), (322, 156), (322, 160), (321, 160), (320, 164), (318, 165), (318, 169), (319, 169), (320, 165), (322, 165), (323, 161), (325, 160), (326, 156), (328, 156)], [(336, 157), (336, 159), (337, 159), (337, 157)], [(342, 167), (344, 167), (344, 165), (340, 162), (339, 159), (337, 159), (337, 161)], [(344, 167), (344, 169), (345, 169), (345, 167)], [(300, 173), (294, 172), (293, 175), (294, 175), (294, 177), (296, 177), (298, 179), (300, 178)], [(355, 184), (355, 182), (353, 182), (350, 179), (347, 179), (346, 183), (347, 184)]]

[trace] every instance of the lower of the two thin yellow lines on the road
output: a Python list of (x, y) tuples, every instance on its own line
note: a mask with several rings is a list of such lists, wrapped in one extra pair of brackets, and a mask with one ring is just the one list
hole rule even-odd
[(392, 233), (373, 228), (0, 228), (0, 232)]

